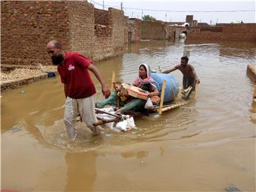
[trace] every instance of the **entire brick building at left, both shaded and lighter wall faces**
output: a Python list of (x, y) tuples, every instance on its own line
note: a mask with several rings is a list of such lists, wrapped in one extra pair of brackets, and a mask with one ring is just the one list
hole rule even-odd
[[(123, 11), (94, 9), (87, 1), (1, 1), (1, 63), (51, 65), (46, 44), (53, 39), (92, 60), (119, 55), (126, 20)], [(97, 31), (95, 22), (106, 28)]]

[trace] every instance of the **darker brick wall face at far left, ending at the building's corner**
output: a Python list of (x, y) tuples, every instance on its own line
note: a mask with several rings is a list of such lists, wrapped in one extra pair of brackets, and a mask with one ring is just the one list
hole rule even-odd
[(69, 46), (68, 6), (62, 1), (1, 1), (1, 63), (49, 64), (46, 44)]

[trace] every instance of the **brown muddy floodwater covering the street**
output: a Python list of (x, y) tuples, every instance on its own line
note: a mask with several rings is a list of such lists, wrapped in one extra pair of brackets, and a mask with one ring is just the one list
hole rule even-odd
[[(255, 191), (256, 105), (246, 76), (255, 43), (143, 41), (96, 65), (108, 82), (113, 70), (132, 82), (139, 63), (167, 69), (182, 55), (201, 80), (198, 100), (138, 118), (130, 132), (106, 128), (92, 137), (78, 124), (78, 139), (69, 142), (59, 77), (2, 92), (1, 189)], [(179, 71), (172, 75), (181, 83)]]

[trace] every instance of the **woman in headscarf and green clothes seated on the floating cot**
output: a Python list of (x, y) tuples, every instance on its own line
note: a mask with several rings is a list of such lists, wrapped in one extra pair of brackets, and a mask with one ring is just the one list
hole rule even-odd
[[(142, 90), (149, 91), (149, 97), (153, 96), (159, 96), (159, 91), (156, 88), (156, 85), (154, 85), (154, 80), (151, 78), (151, 72), (149, 65), (146, 65), (145, 63), (142, 63), (139, 65), (139, 76), (137, 79), (133, 82), (134, 86), (141, 88)], [(103, 108), (105, 105), (114, 105), (117, 106), (117, 90), (114, 90), (114, 92), (110, 95), (110, 97), (107, 98), (107, 100), (104, 100), (103, 102), (97, 102), (96, 107), (97, 108)], [(144, 106), (146, 104), (146, 100), (141, 100), (136, 97), (132, 97), (132, 101), (128, 102), (127, 104), (120, 101), (120, 106), (123, 106), (119, 110), (117, 110), (117, 113), (122, 113), (124, 111), (141, 111), (144, 110)]]

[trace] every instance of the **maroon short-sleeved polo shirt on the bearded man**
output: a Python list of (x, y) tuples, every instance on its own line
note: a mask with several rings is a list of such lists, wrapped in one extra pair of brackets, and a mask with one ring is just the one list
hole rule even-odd
[(68, 97), (81, 99), (95, 94), (95, 86), (87, 70), (91, 61), (77, 52), (65, 51), (63, 65), (58, 65), (61, 82), (68, 84)]

